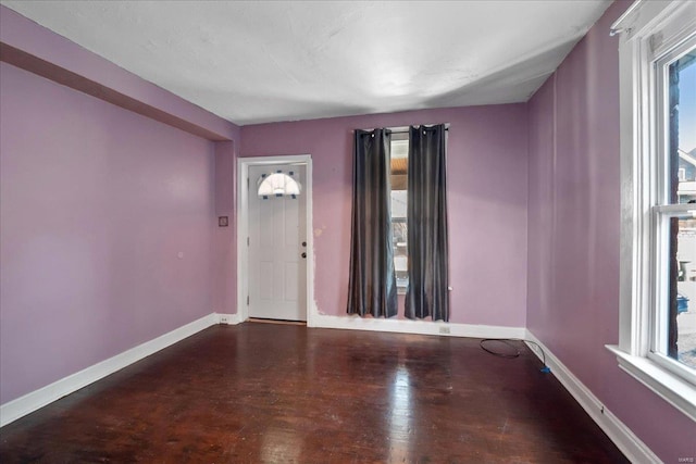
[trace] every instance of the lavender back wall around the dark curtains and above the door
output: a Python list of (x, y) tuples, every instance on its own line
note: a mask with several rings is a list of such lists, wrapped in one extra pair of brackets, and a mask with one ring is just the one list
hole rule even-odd
[(526, 299), (526, 106), (423, 110), (241, 128), (243, 156), (311, 154), (315, 301), (346, 313), (352, 130), (450, 123), (451, 322), (523, 327)]

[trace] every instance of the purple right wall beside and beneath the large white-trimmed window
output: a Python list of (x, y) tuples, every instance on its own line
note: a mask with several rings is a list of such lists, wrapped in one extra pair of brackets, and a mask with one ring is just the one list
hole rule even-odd
[(530, 101), (527, 327), (662, 461), (693, 422), (619, 369), (619, 40), (614, 3)]

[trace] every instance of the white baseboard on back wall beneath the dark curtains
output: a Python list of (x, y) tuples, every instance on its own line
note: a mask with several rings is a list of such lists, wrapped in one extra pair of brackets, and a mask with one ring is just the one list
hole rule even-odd
[(308, 327), (351, 330), (394, 331), (401, 334), (440, 335), (472, 338), (524, 338), (523, 327), (455, 324), (431, 321), (364, 318), (359, 316), (330, 316), (315, 314)]

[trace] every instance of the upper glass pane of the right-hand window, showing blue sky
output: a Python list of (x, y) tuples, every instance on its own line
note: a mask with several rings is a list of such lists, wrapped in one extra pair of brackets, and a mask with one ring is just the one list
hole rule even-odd
[(696, 203), (696, 49), (673, 62), (669, 76), (670, 203)]

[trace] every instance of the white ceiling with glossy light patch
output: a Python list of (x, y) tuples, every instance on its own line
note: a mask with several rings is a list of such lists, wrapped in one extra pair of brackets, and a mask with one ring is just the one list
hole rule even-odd
[(611, 1), (1, 3), (247, 125), (524, 102)]

